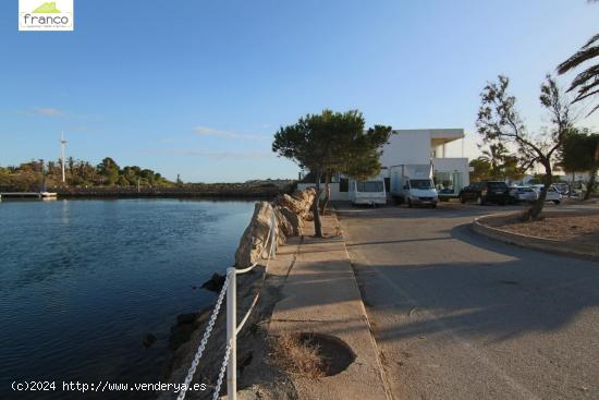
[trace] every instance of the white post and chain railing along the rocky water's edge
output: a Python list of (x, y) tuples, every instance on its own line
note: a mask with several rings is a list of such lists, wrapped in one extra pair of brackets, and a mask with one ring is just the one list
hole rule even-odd
[[(271, 259), (276, 257), (277, 252), (277, 217), (274, 216), (274, 210), (271, 211), (270, 215), (270, 229), (268, 231), (268, 237), (264, 241), (264, 247), (260, 253), (260, 259), (267, 260), (265, 266), (265, 274), (262, 276), (262, 280), (266, 277), (266, 270), (268, 268), (268, 264)], [(268, 247), (268, 254), (265, 257), (265, 251)], [(249, 318), (249, 315), (254, 311), (254, 307), (258, 303), (258, 299), (260, 296), (260, 290), (258, 289), (258, 292), (254, 296), (252, 304), (249, 305), (249, 308), (247, 310), (247, 313), (245, 313), (245, 316), (243, 317), (242, 322), (237, 325), (237, 282), (236, 282), (236, 276), (247, 274), (254, 268), (258, 266), (258, 262), (254, 263), (247, 268), (244, 269), (236, 269), (234, 267), (227, 269), (227, 278), (224, 279), (224, 283), (222, 286), (222, 289), (219, 293), (217, 303), (215, 305), (215, 310), (212, 311), (212, 314), (210, 315), (210, 320), (208, 323), (208, 326), (206, 327), (206, 331), (204, 332), (204, 337), (201, 338), (201, 341), (199, 343), (199, 347), (196, 351), (196, 354), (194, 356), (194, 360), (192, 362), (192, 365), (190, 367), (190, 371), (187, 373), (187, 376), (185, 377), (185, 381), (183, 385), (183, 388), (179, 392), (178, 400), (184, 400), (185, 395), (187, 392), (187, 388), (190, 387), (192, 379), (194, 377), (194, 374), (196, 372), (197, 365), (199, 363), (199, 359), (204, 354), (204, 350), (206, 349), (206, 344), (208, 342), (208, 338), (210, 337), (210, 332), (212, 331), (212, 328), (215, 326), (217, 316), (220, 311), (220, 306), (222, 304), (222, 300), (224, 298), (224, 294), (227, 293), (227, 347), (224, 350), (224, 357), (222, 360), (221, 368), (219, 371), (219, 377), (217, 380), (217, 385), (215, 386), (215, 391), (212, 393), (212, 400), (217, 400), (220, 393), (220, 387), (222, 385), (222, 380), (224, 378), (224, 371), (227, 369), (227, 398), (228, 400), (236, 400), (237, 398), (237, 334), (241, 331), (247, 319)]]

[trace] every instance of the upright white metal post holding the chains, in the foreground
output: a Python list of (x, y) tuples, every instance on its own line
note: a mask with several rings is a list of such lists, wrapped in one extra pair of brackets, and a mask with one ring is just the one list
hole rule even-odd
[(228, 268), (229, 289), (227, 290), (227, 342), (230, 353), (227, 366), (227, 399), (237, 398), (237, 284), (236, 269)]

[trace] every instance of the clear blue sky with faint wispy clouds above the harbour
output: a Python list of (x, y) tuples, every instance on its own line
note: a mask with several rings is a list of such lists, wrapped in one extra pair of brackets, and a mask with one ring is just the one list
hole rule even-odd
[(323, 108), (464, 128), (474, 154), (485, 82), (511, 76), (536, 128), (545, 74), (598, 27), (599, 4), (585, 0), (75, 0), (75, 32), (20, 33), (10, 0), (0, 165), (58, 158), (64, 130), (70, 156), (171, 179), (296, 177), (271, 136)]

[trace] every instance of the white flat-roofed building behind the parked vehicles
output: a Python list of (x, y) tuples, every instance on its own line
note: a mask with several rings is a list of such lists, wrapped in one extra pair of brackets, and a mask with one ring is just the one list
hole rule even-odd
[[(435, 184), (440, 196), (456, 196), (469, 184), (469, 166), (465, 157), (450, 158), (447, 145), (464, 140), (463, 129), (394, 130), (389, 143), (382, 149), (383, 178), (389, 178), (389, 167), (401, 165), (432, 163)], [(389, 180), (387, 180), (389, 190)], [(300, 183), (298, 189), (314, 186)], [(331, 198), (347, 199), (347, 184), (335, 177), (331, 184)]]

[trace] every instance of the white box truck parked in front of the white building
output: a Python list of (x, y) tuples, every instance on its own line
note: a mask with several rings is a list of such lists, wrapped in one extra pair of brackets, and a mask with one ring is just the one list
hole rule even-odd
[(408, 207), (437, 207), (439, 196), (432, 182), (432, 163), (401, 165), (389, 168), (391, 195)]

